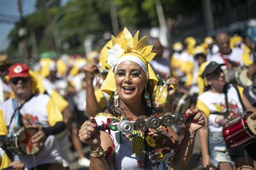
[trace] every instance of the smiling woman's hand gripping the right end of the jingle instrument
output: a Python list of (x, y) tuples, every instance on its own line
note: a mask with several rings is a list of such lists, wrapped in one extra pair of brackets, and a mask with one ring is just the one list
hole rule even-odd
[(187, 110), (186, 114), (196, 114), (196, 116), (192, 119), (191, 122), (188, 121), (188, 127), (191, 135), (193, 133), (197, 133), (199, 129), (203, 128), (203, 126), (205, 125), (205, 118), (201, 111), (199, 111), (198, 109)]

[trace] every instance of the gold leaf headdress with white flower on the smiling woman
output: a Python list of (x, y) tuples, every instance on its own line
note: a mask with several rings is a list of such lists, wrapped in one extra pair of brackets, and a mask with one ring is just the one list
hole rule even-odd
[[(112, 70), (110, 70), (109, 74), (107, 75), (105, 82), (102, 86), (102, 91), (105, 93), (112, 95), (112, 92), (116, 90), (116, 82), (114, 80), (114, 69), (118, 66), (123, 57), (129, 58), (131, 55), (133, 57), (138, 58), (142, 61), (147, 69), (148, 80), (152, 80), (153, 84), (157, 83), (157, 77), (153, 72), (152, 67), (150, 66), (149, 62), (154, 58), (156, 53), (151, 53), (153, 46), (147, 46), (146, 44), (146, 36), (142, 39), (138, 40), (139, 31), (132, 37), (132, 34), (129, 30), (124, 28), (122, 32), (120, 32), (117, 37), (112, 36), (111, 42), (112, 46), (108, 48), (107, 51), (107, 63)], [(121, 60), (119, 60), (121, 59)], [(124, 59), (124, 58), (123, 58)], [(129, 59), (127, 59), (129, 60)], [(133, 61), (133, 60), (130, 60)], [(141, 65), (140, 65), (141, 66)], [(141, 66), (142, 67), (142, 66)], [(145, 70), (144, 70), (145, 71)]]

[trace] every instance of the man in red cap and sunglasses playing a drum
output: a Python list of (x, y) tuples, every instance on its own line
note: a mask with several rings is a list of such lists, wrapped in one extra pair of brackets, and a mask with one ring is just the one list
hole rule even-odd
[(36, 92), (35, 83), (26, 65), (17, 63), (9, 68), (9, 84), (15, 97), (0, 105), (0, 141), (5, 143), (5, 137), (14, 129), (37, 128), (28, 143), (42, 146), (42, 150), (35, 155), (13, 153), (14, 160), (21, 160), (28, 169), (65, 169), (53, 136), (65, 129), (63, 116), (49, 95)]

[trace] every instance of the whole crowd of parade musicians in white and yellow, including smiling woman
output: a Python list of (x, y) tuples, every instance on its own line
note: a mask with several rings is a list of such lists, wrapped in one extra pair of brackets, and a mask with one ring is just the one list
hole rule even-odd
[[(197, 133), (204, 168), (254, 169), (253, 44), (219, 32), (203, 42), (187, 37), (169, 50), (157, 38), (147, 45), (138, 37), (125, 28), (100, 52), (48, 53), (31, 68), (1, 54), (1, 169), (69, 169), (70, 143), (78, 164), (90, 169), (180, 169)], [(186, 115), (184, 126), (148, 123), (177, 112)], [(251, 137), (233, 147), (223, 129), (239, 118)]]

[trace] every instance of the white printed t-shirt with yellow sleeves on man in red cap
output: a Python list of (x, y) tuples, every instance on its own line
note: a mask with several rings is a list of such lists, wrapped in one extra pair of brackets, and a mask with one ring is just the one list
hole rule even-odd
[[(11, 121), (14, 109), (12, 107), (12, 100), (9, 99), (0, 105), (0, 117), (4, 119), (0, 125), (0, 135), (5, 135), (4, 129), (9, 126), (9, 132), (15, 128), (16, 117)], [(21, 119), (23, 124), (42, 125), (43, 128), (53, 126), (56, 122), (63, 121), (60, 111), (52, 103), (50, 97), (45, 94), (38, 94), (33, 96), (20, 109)], [(59, 154), (59, 146), (55, 140), (55, 136), (50, 135), (46, 138), (44, 147), (35, 155), (15, 155), (15, 160), (21, 160), (26, 168), (32, 168), (36, 165), (51, 164), (64, 161)]]

